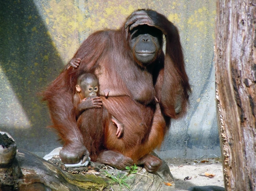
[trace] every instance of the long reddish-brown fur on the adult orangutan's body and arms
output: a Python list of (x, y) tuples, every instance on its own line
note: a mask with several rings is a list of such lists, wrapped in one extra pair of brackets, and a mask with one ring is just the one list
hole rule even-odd
[[(179, 118), (186, 112), (190, 87), (185, 72), (182, 47), (177, 28), (165, 16), (159, 21), (167, 34), (166, 54), (159, 52), (154, 68), (147, 71), (134, 61), (129, 47), (129, 38), (123, 27), (119, 30), (102, 30), (92, 33), (80, 46), (73, 58), (80, 58), (77, 69), (64, 69), (57, 79), (44, 92), (43, 99), (48, 102), (55, 128), (65, 144), (72, 139), (82, 141), (83, 133), (78, 128), (74, 114), (72, 96), (75, 93), (77, 78), (81, 73), (94, 73), (103, 70), (107, 84), (105, 89), (114, 88), (120, 96), (103, 99), (109, 114), (124, 124), (124, 134), (118, 139), (116, 127), (105, 125), (105, 149), (115, 150), (131, 157), (135, 162), (160, 147), (168, 131), (171, 118)], [(129, 79), (140, 83), (136, 86)], [(159, 104), (148, 104), (154, 92), (143, 91), (153, 83)], [(139, 87), (138, 87), (139, 86)], [(103, 87), (99, 87), (103, 88)], [(145, 102), (139, 103), (134, 89), (141, 90)], [(175, 113), (177, 96), (182, 97), (182, 112)], [(65, 145), (64, 144), (64, 145)], [(85, 143), (86, 144), (86, 143)]]

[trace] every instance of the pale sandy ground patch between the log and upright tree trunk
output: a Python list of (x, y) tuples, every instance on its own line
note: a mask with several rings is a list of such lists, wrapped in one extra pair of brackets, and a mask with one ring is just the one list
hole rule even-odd
[[(215, 185), (224, 187), (220, 159), (206, 160), (202, 162), (186, 159), (168, 160), (167, 164), (175, 179), (175, 187), (184, 190), (192, 186)], [(213, 178), (201, 176), (205, 175), (205, 172), (214, 174), (215, 176)], [(184, 180), (185, 177), (191, 179)]]

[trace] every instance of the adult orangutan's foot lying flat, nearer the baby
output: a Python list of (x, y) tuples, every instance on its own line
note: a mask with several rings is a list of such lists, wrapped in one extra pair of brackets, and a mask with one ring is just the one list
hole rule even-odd
[(126, 166), (130, 167), (133, 164), (133, 160), (131, 158), (124, 156), (120, 152), (111, 150), (100, 152), (96, 162), (100, 162), (120, 170), (125, 169)]

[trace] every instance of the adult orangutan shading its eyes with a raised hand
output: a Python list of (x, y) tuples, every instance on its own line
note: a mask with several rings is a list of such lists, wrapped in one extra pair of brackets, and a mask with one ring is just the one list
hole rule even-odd
[(47, 88), (44, 100), (53, 128), (64, 141), (61, 160), (68, 164), (88, 157), (72, 102), (77, 78), (85, 72), (96, 75), (104, 107), (124, 124), (124, 133), (117, 138), (116, 127), (109, 121), (105, 150), (96, 161), (118, 169), (136, 163), (149, 172), (162, 171), (163, 162), (151, 152), (160, 147), (171, 118), (186, 112), (190, 92), (174, 24), (153, 10), (133, 12), (120, 29), (92, 33)]

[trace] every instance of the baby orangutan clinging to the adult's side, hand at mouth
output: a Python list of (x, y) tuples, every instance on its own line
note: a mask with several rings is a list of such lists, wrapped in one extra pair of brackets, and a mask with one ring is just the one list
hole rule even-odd
[(73, 104), (77, 124), (83, 135), (83, 143), (90, 153), (92, 161), (104, 149), (105, 127), (110, 120), (117, 126), (116, 135), (120, 138), (124, 132), (124, 124), (110, 115), (98, 97), (98, 79), (94, 74), (83, 73), (78, 77)]

